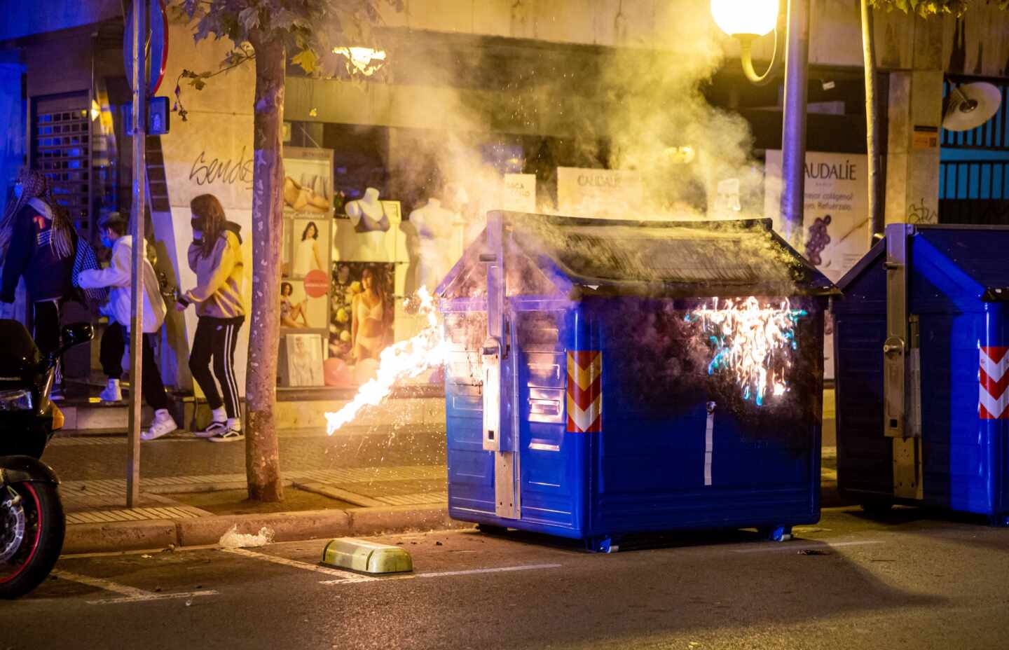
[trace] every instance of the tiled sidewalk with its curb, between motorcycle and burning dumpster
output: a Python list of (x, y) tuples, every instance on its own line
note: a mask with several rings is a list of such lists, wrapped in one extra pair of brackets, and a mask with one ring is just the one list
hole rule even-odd
[(63, 479), (65, 553), (216, 544), (266, 527), (274, 539), (447, 528), (444, 429), (354, 426), (279, 433), (285, 501), (248, 502), (243, 444), (177, 432), (141, 444), (140, 501), (126, 508), (121, 432), (62, 432), (43, 460)]

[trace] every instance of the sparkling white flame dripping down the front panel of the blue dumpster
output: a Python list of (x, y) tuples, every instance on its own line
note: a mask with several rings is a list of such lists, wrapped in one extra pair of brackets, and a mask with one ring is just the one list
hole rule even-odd
[(795, 325), (807, 315), (792, 309), (787, 299), (777, 307), (762, 306), (751, 296), (738, 301), (715, 298), (710, 307), (692, 310), (686, 321), (699, 322), (708, 336), (713, 355), (707, 373), (732, 372), (743, 399), (763, 406), (768, 392), (772, 397), (788, 392), (785, 377), (797, 348)]

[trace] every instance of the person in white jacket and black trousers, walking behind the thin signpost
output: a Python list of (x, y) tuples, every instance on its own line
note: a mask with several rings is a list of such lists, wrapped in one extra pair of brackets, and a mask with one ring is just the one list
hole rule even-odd
[[(126, 234), (127, 222), (119, 213), (112, 212), (99, 223), (102, 243), (112, 248), (112, 263), (100, 270), (84, 270), (80, 275), (82, 289), (109, 288), (109, 302), (102, 313), (109, 317), (109, 327), (102, 335), (102, 369), (108, 384), (102, 392), (103, 402), (119, 402), (122, 392), (119, 376), (122, 374), (122, 356), (126, 349), (130, 323), (132, 294), (133, 237)], [(143, 440), (154, 440), (178, 429), (169, 413), (169, 397), (161, 383), (161, 372), (154, 360), (153, 338), (164, 323), (164, 301), (158, 291), (157, 277), (146, 255), (143, 258), (143, 372), (142, 393), (147, 404), (154, 409), (150, 427), (140, 434)]]

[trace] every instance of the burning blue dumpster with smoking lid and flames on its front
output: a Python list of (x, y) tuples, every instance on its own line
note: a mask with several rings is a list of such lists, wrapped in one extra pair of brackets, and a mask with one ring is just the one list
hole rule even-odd
[(438, 293), (453, 518), (594, 550), (819, 519), (836, 289), (770, 221), (490, 213)]

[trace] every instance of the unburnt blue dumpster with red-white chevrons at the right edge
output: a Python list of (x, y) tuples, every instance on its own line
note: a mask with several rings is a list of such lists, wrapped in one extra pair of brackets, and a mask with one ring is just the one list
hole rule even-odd
[(835, 301), (837, 486), (1009, 523), (1009, 229), (894, 224)]

